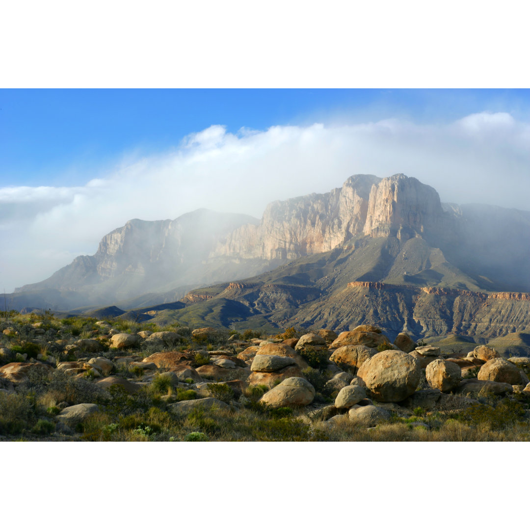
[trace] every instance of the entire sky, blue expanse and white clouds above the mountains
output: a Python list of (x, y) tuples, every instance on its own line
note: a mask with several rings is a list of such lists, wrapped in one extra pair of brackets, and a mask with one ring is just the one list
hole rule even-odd
[(530, 209), (528, 90), (0, 90), (0, 275), (43, 280), (128, 219), (395, 173)]

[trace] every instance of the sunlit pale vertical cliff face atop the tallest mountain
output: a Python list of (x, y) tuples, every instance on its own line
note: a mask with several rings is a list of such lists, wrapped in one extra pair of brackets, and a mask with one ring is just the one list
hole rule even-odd
[(211, 256), (295, 260), (357, 235), (436, 234), (448, 217), (436, 190), (417, 179), (354, 175), (330, 193), (273, 202), (258, 226), (238, 228)]

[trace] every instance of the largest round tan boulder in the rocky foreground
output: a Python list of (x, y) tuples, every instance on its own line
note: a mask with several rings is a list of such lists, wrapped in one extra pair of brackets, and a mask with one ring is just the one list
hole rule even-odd
[(399, 402), (416, 391), (421, 378), (418, 361), (398, 350), (385, 350), (368, 359), (358, 370), (370, 398)]

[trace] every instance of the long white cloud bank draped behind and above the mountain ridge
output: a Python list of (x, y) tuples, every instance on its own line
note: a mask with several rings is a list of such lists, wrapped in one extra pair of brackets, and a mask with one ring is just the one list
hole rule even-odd
[(448, 124), (407, 120), (213, 125), (154, 156), (129, 156), (76, 187), (0, 188), (0, 274), (7, 291), (39, 281), (128, 219), (197, 208), (261, 217), (268, 202), (339, 187), (354, 173), (405, 173), (443, 201), (530, 209), (530, 125), (481, 112)]

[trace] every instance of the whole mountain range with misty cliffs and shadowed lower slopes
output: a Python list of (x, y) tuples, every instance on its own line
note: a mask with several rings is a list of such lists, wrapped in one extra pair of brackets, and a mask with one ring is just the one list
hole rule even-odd
[[(16, 289), (10, 303), (127, 310), (183, 297), (178, 318), (197, 323), (197, 304), (206, 312), (221, 304), (210, 323), (374, 321), (413, 334), (496, 336), (530, 326), (526, 296), (506, 295), (530, 291), (529, 260), (528, 211), (442, 204), (434, 188), (403, 174), (353, 175), (329, 193), (272, 202), (261, 220), (205, 209), (131, 220), (96, 254)], [(499, 300), (511, 302), (496, 314)]]

